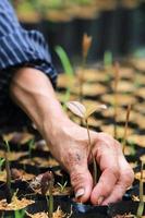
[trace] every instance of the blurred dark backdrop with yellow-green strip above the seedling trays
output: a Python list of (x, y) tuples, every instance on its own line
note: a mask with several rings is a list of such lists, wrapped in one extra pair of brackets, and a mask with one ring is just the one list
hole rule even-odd
[(78, 60), (82, 36), (93, 36), (89, 61), (145, 57), (144, 0), (13, 0), (17, 16), (26, 28), (44, 33), (53, 60), (55, 47), (61, 45)]

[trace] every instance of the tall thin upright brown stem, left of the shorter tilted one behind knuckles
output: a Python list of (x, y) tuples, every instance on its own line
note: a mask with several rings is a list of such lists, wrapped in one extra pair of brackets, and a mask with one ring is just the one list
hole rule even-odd
[(114, 120), (114, 129), (113, 129), (113, 134), (114, 138), (118, 137), (117, 135), (117, 117), (118, 117), (118, 83), (119, 83), (119, 63), (114, 63), (114, 114), (113, 114), (113, 120)]

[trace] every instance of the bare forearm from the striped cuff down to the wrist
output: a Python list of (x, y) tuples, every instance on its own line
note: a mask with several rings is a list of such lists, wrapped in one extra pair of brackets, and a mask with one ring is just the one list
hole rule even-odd
[(68, 120), (59, 104), (49, 78), (38, 70), (17, 70), (11, 83), (12, 99), (27, 113), (44, 137), (55, 135), (61, 122)]

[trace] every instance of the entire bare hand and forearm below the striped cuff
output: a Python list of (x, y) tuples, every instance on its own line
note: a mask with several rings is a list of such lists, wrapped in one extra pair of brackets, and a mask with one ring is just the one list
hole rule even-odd
[(47, 76), (36, 69), (19, 69), (10, 90), (12, 99), (32, 119), (50, 143), (53, 156), (69, 171), (82, 203), (90, 198), (93, 204), (105, 205), (123, 196), (134, 175), (117, 141), (105, 133), (90, 132), (93, 155), (101, 169), (101, 177), (93, 186), (87, 131), (68, 119)]

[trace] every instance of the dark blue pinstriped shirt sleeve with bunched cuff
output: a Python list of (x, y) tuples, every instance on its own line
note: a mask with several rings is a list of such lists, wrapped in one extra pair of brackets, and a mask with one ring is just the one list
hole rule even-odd
[(22, 119), (23, 112), (9, 97), (14, 69), (22, 65), (40, 70), (56, 85), (57, 72), (44, 36), (37, 31), (24, 29), (9, 1), (0, 0), (0, 130), (3, 124), (11, 123), (12, 118), (16, 119), (16, 123), (25, 120)]

